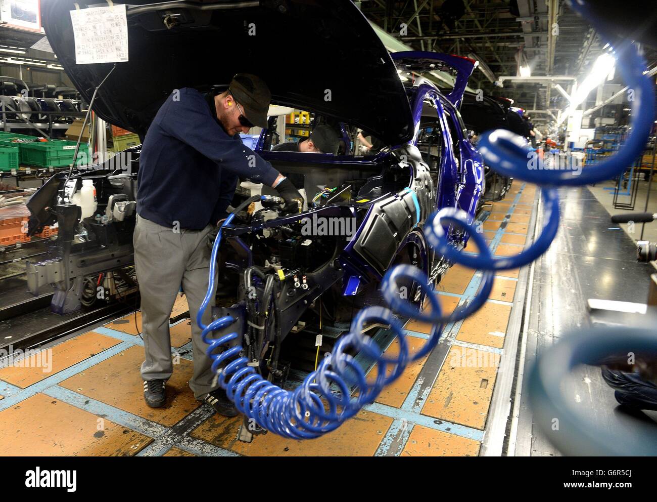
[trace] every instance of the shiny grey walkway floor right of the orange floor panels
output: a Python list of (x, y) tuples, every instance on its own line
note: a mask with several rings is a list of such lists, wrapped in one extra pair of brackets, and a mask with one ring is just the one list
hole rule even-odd
[[(592, 191), (562, 188), (559, 193), (562, 220), (558, 235), (535, 262), (530, 311), (525, 314), (529, 319), (524, 375), (529, 374), (537, 355), (562, 337), (577, 336), (591, 325), (588, 298), (645, 303), (648, 293), (650, 266), (637, 263), (632, 239), (610, 225), (608, 211)], [(611, 198), (606, 193), (601, 196), (605, 195)], [(537, 225), (543, 225), (540, 212)], [(657, 428), (657, 413), (631, 416), (622, 411), (595, 366), (576, 368), (564, 380), (562, 391), (586, 421), (595, 422), (612, 437), (620, 429), (642, 434), (647, 432), (643, 428)], [(533, 422), (526, 386), (512, 446), (516, 456), (560, 455)]]

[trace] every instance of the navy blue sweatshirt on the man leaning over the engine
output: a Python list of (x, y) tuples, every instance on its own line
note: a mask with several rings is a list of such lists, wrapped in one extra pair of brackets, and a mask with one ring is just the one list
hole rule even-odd
[(279, 176), (238, 134), (223, 130), (210, 103), (183, 88), (160, 107), (139, 155), (139, 216), (201, 230), (225, 216), (238, 177), (271, 186)]

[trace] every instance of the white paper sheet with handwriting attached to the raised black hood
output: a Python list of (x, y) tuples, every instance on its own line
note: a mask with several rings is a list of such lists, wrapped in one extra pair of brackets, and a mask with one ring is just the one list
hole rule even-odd
[(127, 61), (125, 4), (89, 7), (70, 12), (76, 39), (76, 63)]

